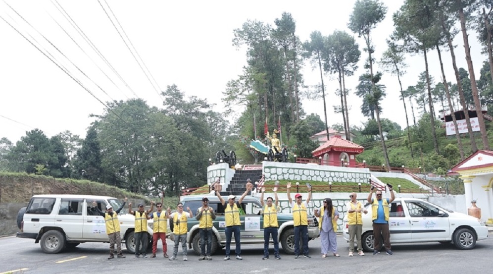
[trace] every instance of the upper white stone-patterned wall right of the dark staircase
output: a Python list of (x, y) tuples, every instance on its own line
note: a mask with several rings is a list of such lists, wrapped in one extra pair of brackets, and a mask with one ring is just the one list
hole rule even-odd
[(368, 168), (340, 167), (331, 165), (264, 162), (266, 181), (295, 180), (319, 182), (368, 183)]

